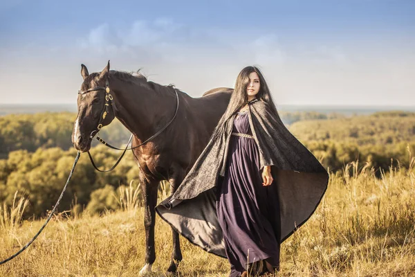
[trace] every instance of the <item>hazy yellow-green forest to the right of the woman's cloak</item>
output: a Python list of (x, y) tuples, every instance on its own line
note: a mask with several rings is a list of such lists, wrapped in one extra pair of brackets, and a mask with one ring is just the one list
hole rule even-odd
[(382, 111), (369, 116), (302, 120), (289, 129), (333, 171), (356, 160), (383, 170), (392, 163), (407, 166), (409, 153), (415, 154), (415, 113)]

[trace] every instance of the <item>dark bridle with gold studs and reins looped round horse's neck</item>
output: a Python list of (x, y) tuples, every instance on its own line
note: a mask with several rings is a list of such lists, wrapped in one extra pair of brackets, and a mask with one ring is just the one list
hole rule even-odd
[[(104, 120), (105, 120), (105, 118), (107, 117), (107, 115), (109, 114), (109, 112), (110, 112), (110, 106), (112, 107), (112, 105), (113, 105), (113, 102), (112, 102), (112, 100), (113, 100), (113, 96), (111, 95), (111, 89), (109, 88), (109, 80), (108, 80), (108, 78), (107, 78), (107, 80), (105, 80), (105, 87), (102, 87), (102, 86), (97, 86), (97, 87), (93, 87), (93, 88), (91, 88), (91, 89), (86, 89), (86, 90), (84, 90), (84, 91), (78, 91), (78, 94), (80, 94), (80, 95), (84, 95), (84, 94), (86, 94), (86, 93), (89, 93), (89, 92), (91, 92), (91, 91), (102, 91), (102, 90), (104, 90), (105, 91), (105, 104), (104, 104), (104, 109), (102, 109), (102, 112), (101, 112), (101, 115), (100, 115), (100, 120), (98, 121), (98, 126), (97, 126), (97, 128), (96, 129), (94, 129), (92, 132), (91, 132), (91, 135), (89, 136), (89, 139), (91, 139), (91, 141), (92, 141), (92, 139), (98, 134), (98, 132), (100, 132), (100, 129), (103, 127), (103, 123), (104, 123)], [(172, 123), (173, 122), (173, 120), (174, 120), (174, 118), (176, 118), (176, 115), (177, 115), (177, 111), (178, 111), (178, 94), (177, 94), (177, 89), (174, 89), (174, 92), (176, 93), (176, 98), (177, 98), (177, 105), (176, 105), (176, 111), (174, 111), (174, 116), (173, 116), (173, 118), (171, 119), (171, 120), (169, 120), (169, 122), (163, 127), (163, 128), (161, 128), (160, 130), (158, 130), (158, 132), (156, 132), (156, 134), (154, 134), (154, 135), (152, 135), (152, 136), (150, 136), (148, 139), (146, 139), (145, 141), (143, 141), (142, 143), (140, 143), (139, 145), (136, 145), (136, 146), (134, 146), (134, 147), (131, 147), (131, 148), (128, 148), (128, 145), (129, 145), (129, 143), (131, 143), (131, 139), (133, 138), (133, 134), (131, 134), (131, 136), (130, 136), (130, 138), (129, 138), (129, 141), (128, 141), (128, 143), (127, 143), (127, 146), (124, 148), (124, 149), (122, 149), (122, 148), (116, 148), (115, 146), (112, 146), (112, 145), (110, 145), (109, 143), (107, 143), (106, 141), (104, 141), (102, 138), (100, 138), (100, 136), (96, 136), (96, 138), (95, 139), (97, 139), (98, 141), (100, 141), (100, 143), (102, 143), (102, 144), (104, 144), (105, 146), (107, 146), (107, 147), (109, 147), (109, 148), (112, 148), (112, 149), (115, 149), (115, 150), (122, 150), (122, 151), (124, 151), (124, 152), (122, 152), (122, 154), (121, 154), (121, 156), (120, 156), (120, 158), (118, 158), (118, 161), (114, 164), (114, 166), (112, 167), (112, 168), (110, 168), (109, 170), (100, 170), (96, 165), (95, 165), (95, 162), (93, 161), (93, 159), (92, 159), (92, 156), (91, 156), (91, 153), (88, 151), (88, 155), (89, 155), (89, 159), (91, 160), (91, 163), (92, 163), (92, 165), (93, 165), (93, 167), (96, 169), (96, 170), (98, 170), (98, 171), (100, 171), (100, 172), (109, 172), (109, 171), (111, 171), (111, 170), (113, 170), (114, 168), (116, 168), (116, 166), (118, 166), (118, 163), (120, 163), (120, 161), (121, 161), (121, 159), (122, 159), (122, 157), (124, 157), (124, 154), (125, 154), (125, 152), (127, 151), (127, 150), (133, 150), (133, 149), (136, 149), (136, 148), (139, 148), (140, 146), (142, 146), (142, 145), (144, 145), (145, 143), (147, 143), (147, 142), (149, 142), (151, 139), (154, 139), (156, 136), (158, 136), (161, 132), (163, 132), (169, 125), (170, 125), (170, 123)], [(114, 118), (116, 117), (116, 114), (114, 113), (114, 110), (113, 110), (113, 108), (111, 109), (112, 110), (112, 112), (113, 112), (113, 116), (114, 116)]]

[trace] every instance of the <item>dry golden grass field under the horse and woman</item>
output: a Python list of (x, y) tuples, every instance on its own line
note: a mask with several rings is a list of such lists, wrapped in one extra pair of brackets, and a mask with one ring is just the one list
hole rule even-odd
[[(143, 266), (143, 211), (125, 191), (122, 211), (56, 215), (0, 276), (138, 276)], [(127, 197), (127, 195), (129, 197)], [(24, 201), (0, 208), (0, 260), (26, 244), (43, 220), (19, 223)], [(12, 213), (12, 214), (11, 214)], [(171, 231), (156, 221), (154, 274), (164, 276)], [(181, 239), (178, 276), (228, 276), (228, 262)], [(317, 211), (282, 244), (278, 276), (415, 276), (415, 160), (409, 170), (358, 163), (331, 174)]]

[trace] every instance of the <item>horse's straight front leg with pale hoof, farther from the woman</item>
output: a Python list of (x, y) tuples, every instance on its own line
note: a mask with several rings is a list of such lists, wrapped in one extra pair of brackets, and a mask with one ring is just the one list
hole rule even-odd
[(156, 204), (158, 192), (157, 180), (141, 179), (142, 193), (144, 198), (144, 226), (145, 226), (145, 265), (140, 270), (140, 275), (151, 272), (151, 266), (156, 260), (156, 249), (154, 249), (154, 224), (156, 223)]

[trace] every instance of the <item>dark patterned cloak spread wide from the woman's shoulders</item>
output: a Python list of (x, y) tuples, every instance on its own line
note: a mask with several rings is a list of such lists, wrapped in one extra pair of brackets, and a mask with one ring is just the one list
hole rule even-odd
[[(271, 166), (277, 186), (283, 242), (314, 213), (329, 175), (262, 100), (249, 102), (250, 129), (259, 149), (260, 168)], [(156, 206), (160, 217), (187, 240), (226, 258), (216, 215), (216, 184), (225, 173), (234, 116), (212, 136), (176, 192)]]

